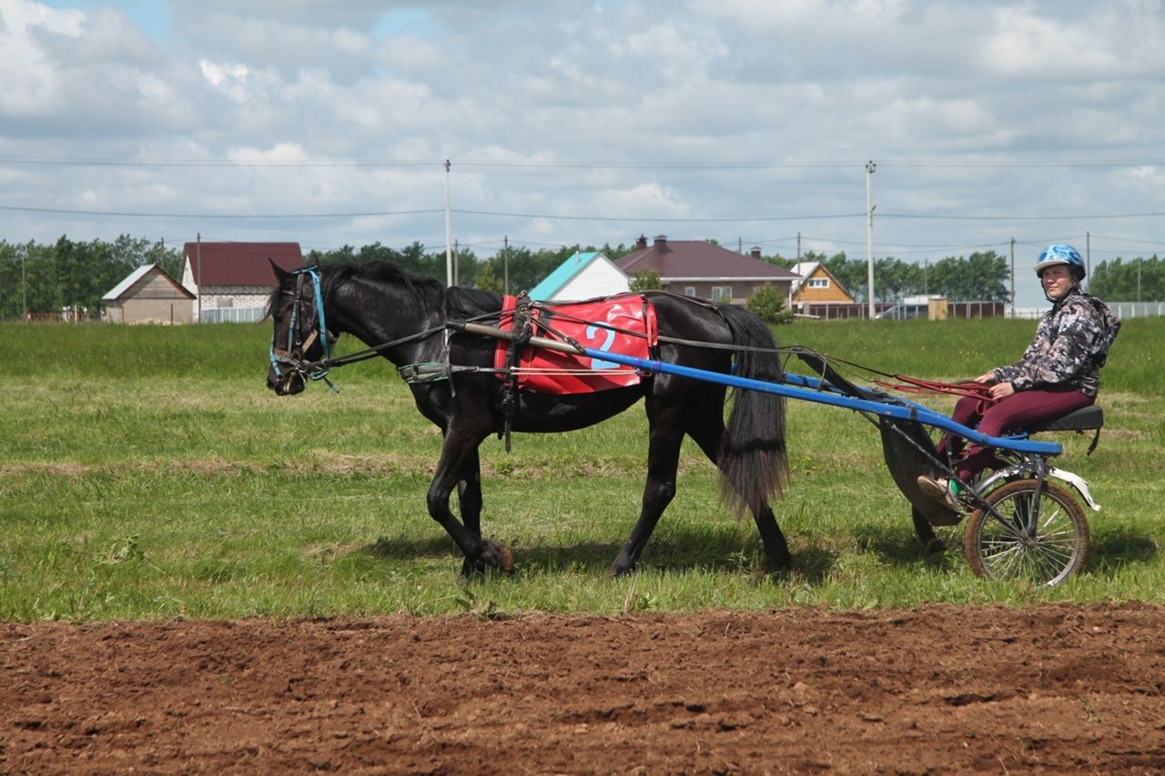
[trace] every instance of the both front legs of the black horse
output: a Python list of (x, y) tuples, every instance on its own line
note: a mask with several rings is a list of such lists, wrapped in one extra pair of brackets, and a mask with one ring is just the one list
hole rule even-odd
[[(513, 571), (514, 556), (509, 551), (509, 548), (481, 538), (480, 478), (476, 495), (478, 505), (475, 509), (469, 510), (472, 513), (469, 525), (465, 525), (458, 521), (449, 506), (450, 496), (453, 494), (454, 488), (459, 487), (467, 461), (472, 463), (476, 457), (478, 445), (481, 444), (485, 437), (486, 433), (460, 433), (457, 431), (449, 431), (445, 435), (440, 461), (437, 464), (437, 473), (433, 477), (433, 481), (429, 486), (425, 503), (429, 507), (429, 516), (440, 523), (440, 527), (445, 529), (465, 556), (463, 570), (466, 566), (474, 567), (474, 564), (483, 564), (494, 569), (501, 569), (502, 571)], [(469, 491), (469, 501), (472, 503), (474, 500), (473, 489), (467, 488), (467, 491)]]

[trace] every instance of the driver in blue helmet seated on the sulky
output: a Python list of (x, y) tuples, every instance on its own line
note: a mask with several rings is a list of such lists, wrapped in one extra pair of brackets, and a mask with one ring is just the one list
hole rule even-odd
[[(960, 398), (951, 416), (955, 423), (998, 437), (1096, 401), (1100, 368), (1121, 322), (1103, 302), (1080, 289), (1085, 262), (1071, 245), (1051, 245), (1040, 253), (1036, 275), (1052, 303), (1036, 327), (1036, 339), (1016, 364), (975, 378), (975, 382), (990, 386), (993, 403), (984, 408), (977, 397)], [(962, 437), (947, 432), (939, 442), (939, 452), (955, 460), (959, 480), (970, 482), (990, 463), (993, 450), (970, 445), (956, 460), (965, 444)], [(960, 510), (961, 487), (953, 480), (918, 478), (919, 491), (955, 512)]]

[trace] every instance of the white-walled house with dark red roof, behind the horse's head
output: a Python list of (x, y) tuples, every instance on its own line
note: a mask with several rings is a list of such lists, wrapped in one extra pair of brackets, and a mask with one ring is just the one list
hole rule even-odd
[[(270, 262), (303, 267), (298, 242), (188, 242), (182, 284), (197, 297), (195, 319), (249, 323), (263, 317), (275, 289)], [(270, 261), (268, 261), (270, 260)]]

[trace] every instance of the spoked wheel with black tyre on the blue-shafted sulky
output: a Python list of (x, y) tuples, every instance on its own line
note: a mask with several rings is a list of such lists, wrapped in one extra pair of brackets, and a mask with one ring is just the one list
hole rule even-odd
[(1088, 520), (1072, 494), (1045, 481), (1036, 499), (1036, 480), (1008, 482), (967, 517), (963, 552), (972, 571), (986, 579), (1028, 579), (1058, 585), (1080, 571), (1088, 557)]

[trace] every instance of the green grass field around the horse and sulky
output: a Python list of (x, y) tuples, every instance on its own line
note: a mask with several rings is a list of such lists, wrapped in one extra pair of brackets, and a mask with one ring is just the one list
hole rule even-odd
[[(777, 331), (890, 372), (961, 378), (1015, 360), (1035, 322), (798, 323)], [(518, 569), (456, 581), (425, 514), (440, 437), (387, 362), (278, 398), (267, 326), (0, 325), (0, 619), (333, 613), (904, 607), (925, 601), (1165, 600), (1165, 319), (1124, 325), (1103, 374), (1099, 450), (1060, 464), (1103, 505), (1085, 573), (1053, 590), (923, 555), (876, 430), (793, 403), (792, 482), (776, 505), (796, 571), (761, 570), (755, 528), (716, 498), (694, 445), (641, 572), (605, 574), (634, 522), (640, 408), (570, 435), (482, 446), (485, 534)], [(355, 343), (347, 343), (350, 348)], [(949, 409), (944, 400), (929, 401)]]

